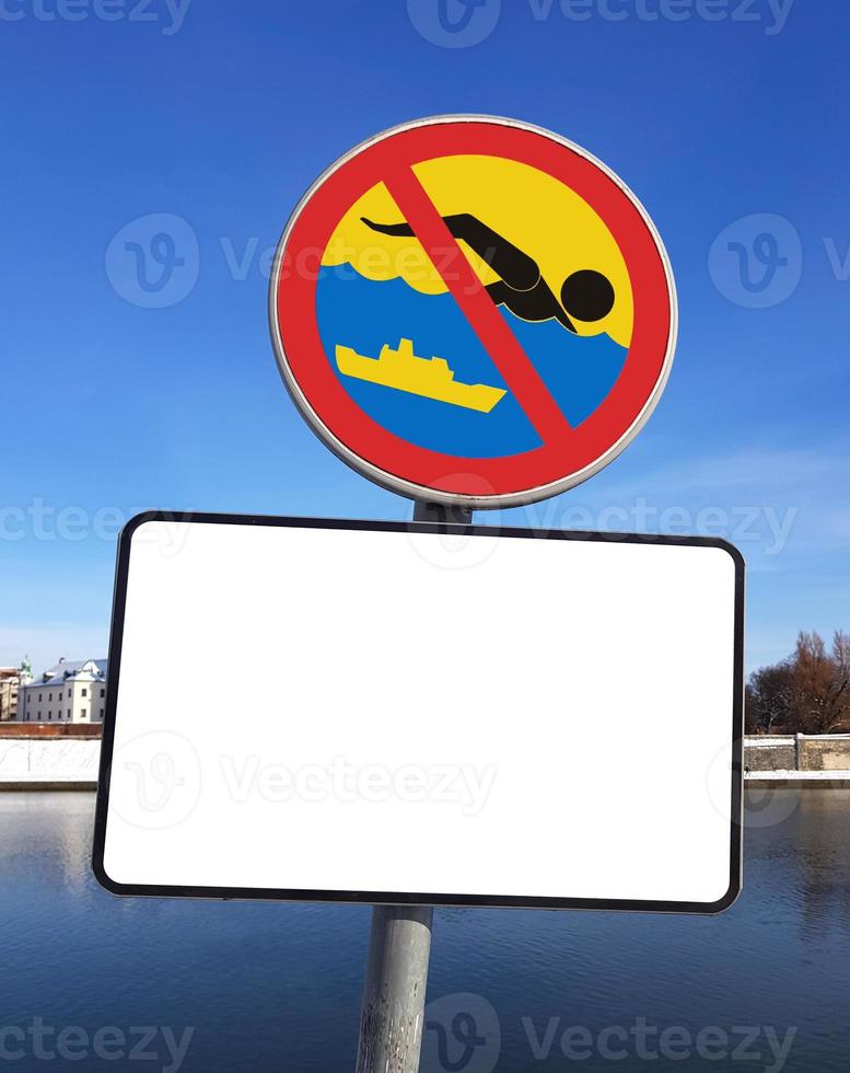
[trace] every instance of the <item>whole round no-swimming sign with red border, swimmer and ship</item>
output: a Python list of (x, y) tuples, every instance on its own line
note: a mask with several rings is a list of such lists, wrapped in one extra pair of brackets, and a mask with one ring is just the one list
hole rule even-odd
[[(470, 185), (479, 166), (506, 178), (490, 184), (484, 172), (487, 185)], [(540, 217), (547, 197), (563, 214), (556, 209), (545, 227), (537, 220), (535, 235), (525, 219)], [(373, 204), (393, 219), (359, 215)], [(406, 243), (408, 255), (415, 244), (427, 259), (427, 285), (412, 272), (405, 277), (400, 256), (397, 270), (375, 261), (394, 243)], [(560, 268), (547, 272), (559, 244), (564, 264), (578, 266), (567, 278)], [(584, 267), (582, 257), (602, 268)], [(411, 301), (427, 307), (427, 319), (439, 311), (466, 333), (458, 349), (470, 353), (469, 368), (487, 361), (489, 373), (464, 376), (451, 347), (444, 357), (442, 345), (415, 355), (419, 342), (405, 337), (416, 334), (406, 324), (393, 336)], [(384, 342), (372, 346), (380, 355), (342, 345), (340, 310), (354, 337), (371, 332)], [(669, 374), (676, 297), (657, 231), (603, 163), (516, 120), (436, 116), (363, 142), (314, 183), (278, 245), (269, 320), (287, 389), (340, 459), (414, 499), (497, 508), (564, 492), (631, 442)], [(545, 342), (539, 354), (537, 339)], [(561, 369), (571, 381), (561, 382)], [(441, 437), (447, 447), (435, 446)]]

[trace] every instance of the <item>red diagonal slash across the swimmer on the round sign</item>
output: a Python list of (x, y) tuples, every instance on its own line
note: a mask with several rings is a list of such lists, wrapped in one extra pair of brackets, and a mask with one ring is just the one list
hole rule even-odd
[(384, 183), (540, 439), (562, 438), (570, 431), (567, 418), (414, 171), (399, 168), (385, 174)]

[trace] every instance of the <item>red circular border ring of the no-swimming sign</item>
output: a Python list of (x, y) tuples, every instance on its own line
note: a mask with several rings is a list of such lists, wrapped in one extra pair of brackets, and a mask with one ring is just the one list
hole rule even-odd
[[(613, 389), (593, 414), (558, 442), (522, 454), (459, 458), (395, 436), (348, 395), (319, 337), (315, 313), (318, 268), (341, 217), (381, 181), (382, 172), (456, 154), (519, 160), (569, 186), (608, 227), (631, 281), (632, 339)], [(296, 403), (303, 408), (305, 402), (319, 426), (357, 459), (386, 473), (391, 484), (395, 478), (450, 497), (514, 496), (525, 501), (536, 498), (533, 493), (547, 485), (567, 487), (570, 477), (599, 462), (627, 436), (666, 374), (673, 328), (671, 285), (657, 241), (638, 205), (593, 160), (544, 131), (504, 122), (445, 119), (416, 125), (389, 131), (356, 150), (319, 181), (296, 211), (278, 251), (272, 286), (272, 315), (283, 351), (279, 357), (304, 396), (303, 401), (295, 396)], [(310, 420), (311, 415), (305, 416)], [(372, 474), (366, 471), (366, 475)], [(558, 491), (561, 488), (554, 489)]]

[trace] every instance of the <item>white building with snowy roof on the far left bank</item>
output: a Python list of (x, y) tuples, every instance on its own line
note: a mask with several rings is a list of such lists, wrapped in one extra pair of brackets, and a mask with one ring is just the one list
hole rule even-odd
[(65, 659), (18, 690), (18, 723), (103, 723), (106, 660)]

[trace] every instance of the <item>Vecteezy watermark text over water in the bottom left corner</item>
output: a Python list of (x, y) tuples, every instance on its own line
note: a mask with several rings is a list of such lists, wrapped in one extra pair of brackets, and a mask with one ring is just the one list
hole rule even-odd
[(147, 1070), (179, 1073), (194, 1035), (194, 1028), (167, 1025), (104, 1025), (89, 1031), (80, 1025), (56, 1026), (34, 1017), (27, 1025), (0, 1025), (0, 1063), (57, 1062), (82, 1069), (80, 1063), (96, 1059), (120, 1062), (121, 1069), (143, 1062)]

